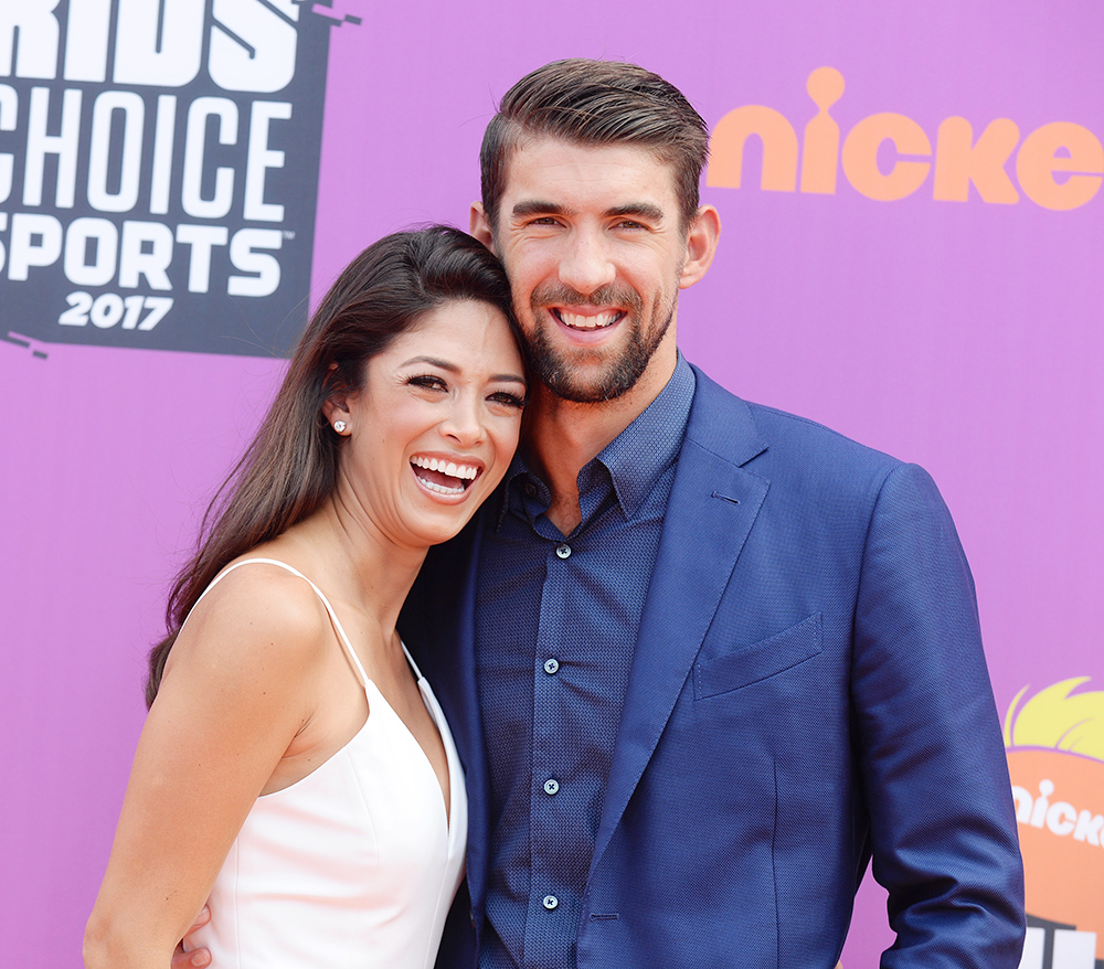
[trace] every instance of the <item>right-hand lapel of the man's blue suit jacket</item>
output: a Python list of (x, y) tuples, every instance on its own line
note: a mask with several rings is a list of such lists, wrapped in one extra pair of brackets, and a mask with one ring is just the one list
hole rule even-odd
[(687, 435), (644, 606), (593, 875), (651, 758), (766, 496), (740, 465), (762, 452), (747, 406), (696, 370)]

